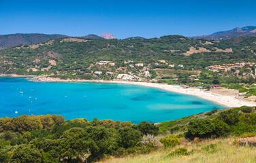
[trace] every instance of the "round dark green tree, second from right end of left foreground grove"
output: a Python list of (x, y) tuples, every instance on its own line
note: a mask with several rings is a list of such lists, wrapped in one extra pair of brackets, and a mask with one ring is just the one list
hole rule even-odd
[(119, 147), (134, 147), (141, 140), (142, 132), (140, 130), (135, 130), (131, 127), (124, 127), (118, 130), (116, 142)]

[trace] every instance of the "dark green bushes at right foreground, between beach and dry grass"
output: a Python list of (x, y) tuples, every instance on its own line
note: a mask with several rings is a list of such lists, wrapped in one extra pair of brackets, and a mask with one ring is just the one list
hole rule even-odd
[[(208, 115), (216, 113), (212, 110)], [(256, 133), (255, 107), (240, 107), (222, 111), (217, 115), (206, 119), (192, 120), (187, 126), (185, 137), (189, 139), (227, 137), (229, 134), (241, 135), (244, 133)]]

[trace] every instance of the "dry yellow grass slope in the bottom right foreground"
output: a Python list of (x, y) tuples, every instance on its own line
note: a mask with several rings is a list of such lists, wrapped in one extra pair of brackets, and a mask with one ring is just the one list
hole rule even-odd
[[(208, 145), (214, 145), (213, 149), (206, 149)], [(188, 156), (170, 156), (175, 149), (185, 147), (188, 151), (195, 150)], [(256, 162), (256, 147), (234, 145), (230, 139), (204, 140), (199, 143), (185, 143), (175, 148), (162, 149), (150, 154), (140, 156), (128, 156), (126, 158), (110, 158), (102, 163), (150, 163), (150, 162)]]

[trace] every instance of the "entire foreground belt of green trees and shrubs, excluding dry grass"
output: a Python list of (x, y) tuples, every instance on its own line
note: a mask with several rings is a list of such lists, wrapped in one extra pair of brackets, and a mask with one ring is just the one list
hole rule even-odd
[[(0, 122), (0, 162), (3, 163), (95, 162), (110, 156), (172, 148), (185, 139), (256, 135), (255, 107), (245, 106), (214, 109), (158, 126), (145, 121), (136, 125), (97, 118), (91, 122), (86, 119), (65, 121), (60, 115), (22, 115), (1, 118)], [(167, 136), (163, 134), (163, 127), (169, 130)]]

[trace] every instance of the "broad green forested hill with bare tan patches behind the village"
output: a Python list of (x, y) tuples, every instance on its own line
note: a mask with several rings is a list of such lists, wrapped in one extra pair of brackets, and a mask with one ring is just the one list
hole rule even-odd
[(185, 65), (186, 69), (202, 69), (222, 63), (255, 62), (255, 52), (256, 37), (222, 41), (194, 40), (180, 35), (123, 40), (69, 37), (0, 50), (0, 73), (83, 73), (101, 60), (115, 62), (113, 68), (128, 66), (124, 60), (147, 64), (166, 60), (170, 64)]

